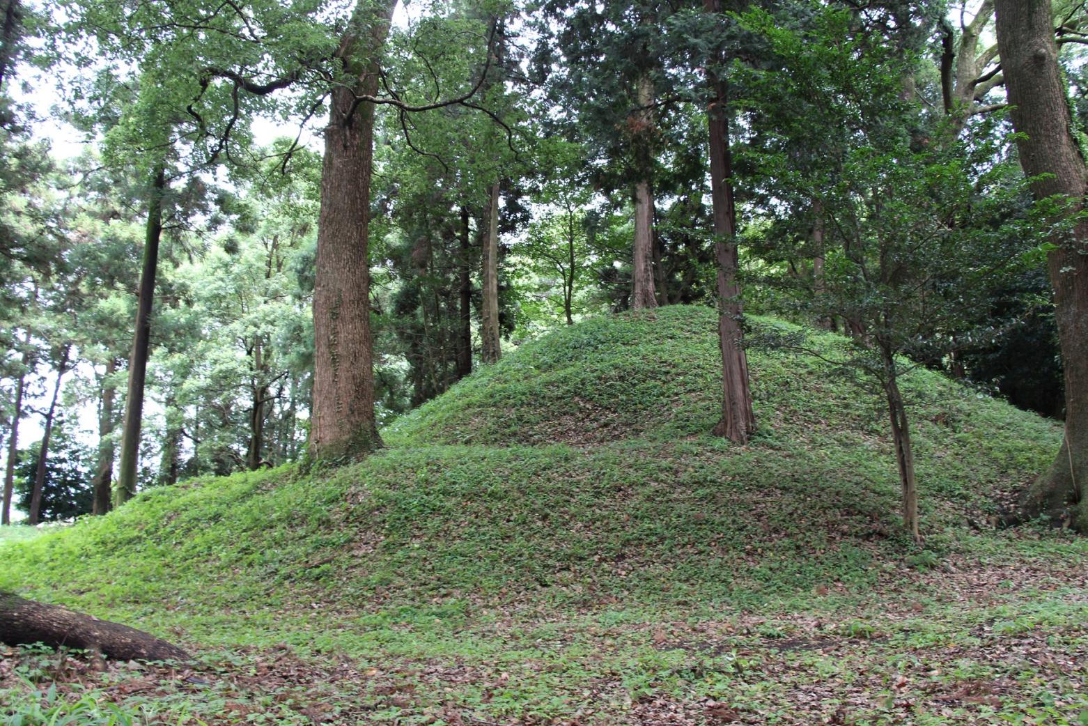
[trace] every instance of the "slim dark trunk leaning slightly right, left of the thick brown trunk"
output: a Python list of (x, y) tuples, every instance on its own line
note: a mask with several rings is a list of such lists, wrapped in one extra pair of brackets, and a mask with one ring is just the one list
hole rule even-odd
[(154, 302), (154, 276), (159, 267), (159, 241), (162, 238), (162, 197), (166, 172), (159, 167), (151, 183), (147, 209), (147, 235), (144, 241), (144, 269), (139, 279), (136, 307), (136, 334), (128, 360), (128, 392), (125, 396), (125, 421), (121, 431), (121, 468), (113, 490), (113, 504), (127, 502), (136, 493), (136, 466), (139, 458), (140, 423), (144, 417), (144, 383), (151, 342), (151, 304)]

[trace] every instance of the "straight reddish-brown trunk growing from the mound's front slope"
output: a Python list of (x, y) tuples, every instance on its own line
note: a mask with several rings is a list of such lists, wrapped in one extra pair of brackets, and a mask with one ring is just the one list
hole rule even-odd
[[(719, 12), (720, 0), (704, 0), (704, 10)], [(707, 113), (710, 147), (710, 198), (714, 202), (714, 257), (717, 262), (718, 342), (721, 349), (721, 420), (718, 435), (746, 444), (755, 431), (747, 355), (742, 344), (744, 308), (737, 284), (737, 209), (733, 204), (732, 160), (729, 153), (729, 120), (726, 88), (709, 74), (714, 101)]]

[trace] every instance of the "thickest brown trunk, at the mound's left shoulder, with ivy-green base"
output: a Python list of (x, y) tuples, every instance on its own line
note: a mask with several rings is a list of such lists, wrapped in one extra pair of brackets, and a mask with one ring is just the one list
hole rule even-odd
[(310, 422), (310, 454), (317, 459), (360, 458), (382, 445), (374, 420), (367, 236), (374, 104), (357, 96), (378, 93), (378, 56), (395, 4), (360, 0), (336, 51), (354, 85), (330, 94), (321, 169)]

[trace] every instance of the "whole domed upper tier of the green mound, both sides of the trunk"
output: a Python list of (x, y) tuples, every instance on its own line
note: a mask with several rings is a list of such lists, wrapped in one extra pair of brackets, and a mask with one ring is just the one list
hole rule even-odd
[[(756, 329), (792, 325), (754, 318)], [(842, 340), (824, 334), (817, 345)], [(388, 444), (597, 445), (625, 439), (675, 441), (706, 434), (719, 416), (720, 357), (715, 310), (670, 306), (603, 316), (528, 343), (449, 392), (397, 420)], [(791, 444), (830, 434), (851, 446), (883, 438), (879, 399), (815, 356), (749, 352), (759, 432), (754, 445)], [(907, 378), (911, 415), (955, 428), (1012, 416), (1047, 429), (1038, 417), (980, 398), (944, 377)], [(1000, 413), (999, 413), (1000, 411)], [(923, 447), (927, 430), (922, 430)]]

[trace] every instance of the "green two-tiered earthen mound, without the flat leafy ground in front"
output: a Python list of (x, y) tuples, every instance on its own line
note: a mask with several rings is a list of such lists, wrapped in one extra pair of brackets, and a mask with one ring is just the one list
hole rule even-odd
[[(901, 559), (870, 397), (817, 359), (753, 354), (761, 434), (735, 447), (705, 435), (716, 355), (702, 308), (582, 323), (422, 407), (359, 465), (154, 489), (3, 545), (0, 589), (137, 622), (182, 610), (208, 639), (238, 614), (271, 623), (298, 603), (751, 603), (870, 581)], [(968, 516), (1047, 465), (1059, 430), (932, 373), (908, 390), (929, 546), (959, 546)], [(518, 443), (549, 440), (582, 445)]]

